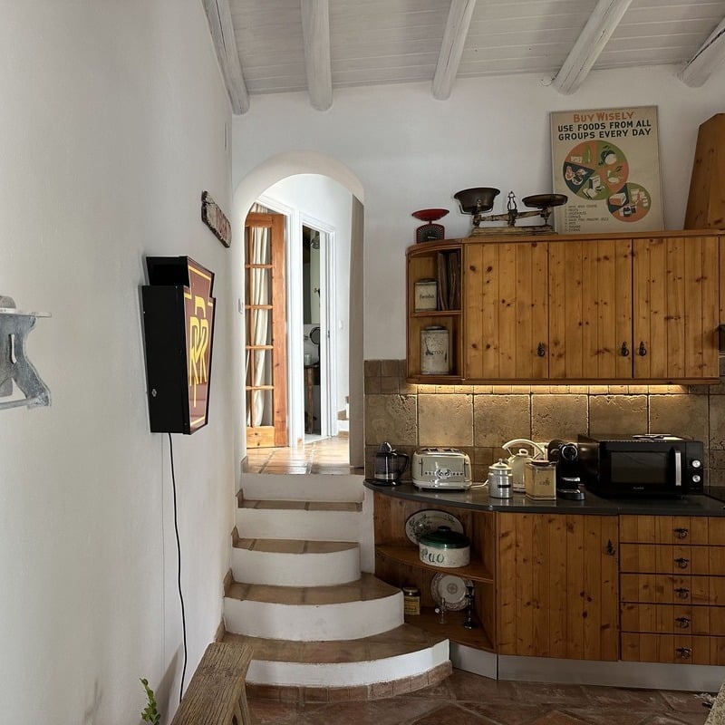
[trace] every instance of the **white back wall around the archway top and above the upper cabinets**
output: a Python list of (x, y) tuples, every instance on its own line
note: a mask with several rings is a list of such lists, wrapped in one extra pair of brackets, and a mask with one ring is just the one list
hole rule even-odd
[(658, 106), (665, 226), (681, 228), (698, 127), (722, 111), (725, 73), (690, 89), (677, 70), (594, 72), (572, 96), (534, 75), (460, 79), (445, 102), (432, 99), (430, 83), (337, 89), (324, 112), (304, 93), (255, 96), (234, 119), (234, 186), (260, 164), (301, 150), (336, 160), (359, 179), (364, 357), (403, 358), (404, 252), (420, 225), (411, 212), (449, 208), (441, 219), (447, 237), (463, 237), (470, 218), (452, 198), (459, 189), (501, 189), (494, 213), (505, 210), (509, 189), (517, 198), (551, 190), (550, 111)]

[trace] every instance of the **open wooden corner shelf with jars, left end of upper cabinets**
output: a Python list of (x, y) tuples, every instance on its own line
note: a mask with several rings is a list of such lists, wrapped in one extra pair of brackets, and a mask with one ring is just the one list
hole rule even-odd
[(462, 248), (423, 242), (407, 258), (408, 379), (454, 384), (462, 376)]

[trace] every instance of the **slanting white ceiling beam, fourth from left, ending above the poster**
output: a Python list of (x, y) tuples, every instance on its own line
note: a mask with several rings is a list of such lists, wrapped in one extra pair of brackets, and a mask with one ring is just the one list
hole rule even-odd
[(552, 85), (558, 92), (569, 95), (581, 86), (631, 3), (632, 0), (599, 0), (556, 73)]

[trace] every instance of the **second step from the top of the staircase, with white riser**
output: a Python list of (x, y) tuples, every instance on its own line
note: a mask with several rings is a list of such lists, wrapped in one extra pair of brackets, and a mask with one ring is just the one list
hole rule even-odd
[(244, 498), (237, 507), (237, 530), (245, 538), (360, 541), (369, 538), (368, 519), (362, 516), (362, 501)]

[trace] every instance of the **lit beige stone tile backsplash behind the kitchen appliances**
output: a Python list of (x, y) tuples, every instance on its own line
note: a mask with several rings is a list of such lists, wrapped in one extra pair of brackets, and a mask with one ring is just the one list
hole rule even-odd
[[(671, 432), (702, 440), (710, 481), (725, 479), (725, 358), (717, 385), (417, 385), (404, 360), (365, 361), (365, 472), (383, 441), (409, 455), (465, 450), (476, 480), (514, 438)], [(410, 471), (404, 478), (410, 478)]]

